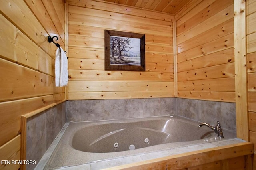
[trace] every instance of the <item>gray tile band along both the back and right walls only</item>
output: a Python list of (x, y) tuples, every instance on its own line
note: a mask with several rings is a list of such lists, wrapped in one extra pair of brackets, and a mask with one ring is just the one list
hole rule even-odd
[(180, 115), (236, 131), (236, 104), (183, 98), (66, 101), (67, 122)]

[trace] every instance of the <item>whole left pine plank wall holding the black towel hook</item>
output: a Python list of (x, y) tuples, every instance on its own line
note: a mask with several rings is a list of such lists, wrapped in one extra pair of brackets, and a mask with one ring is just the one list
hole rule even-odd
[[(64, 48), (64, 0), (1, 0), (0, 5), (0, 160), (20, 159), (20, 116), (65, 101), (55, 87), (58, 36)], [(18, 169), (0, 165), (0, 169)]]

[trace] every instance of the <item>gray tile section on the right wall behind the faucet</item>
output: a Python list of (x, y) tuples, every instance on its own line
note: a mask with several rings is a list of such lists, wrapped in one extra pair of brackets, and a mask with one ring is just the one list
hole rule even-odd
[(236, 103), (177, 98), (177, 113), (189, 119), (216, 125), (236, 132)]

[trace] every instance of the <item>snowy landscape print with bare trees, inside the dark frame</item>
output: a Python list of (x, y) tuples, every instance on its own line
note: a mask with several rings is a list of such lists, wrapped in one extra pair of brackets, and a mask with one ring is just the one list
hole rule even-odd
[(110, 65), (140, 66), (140, 38), (110, 36)]

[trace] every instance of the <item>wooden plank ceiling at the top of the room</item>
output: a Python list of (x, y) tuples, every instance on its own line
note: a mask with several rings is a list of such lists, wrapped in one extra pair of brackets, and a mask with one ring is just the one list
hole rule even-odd
[(190, 0), (104, 0), (116, 4), (136, 6), (149, 10), (176, 14)]

